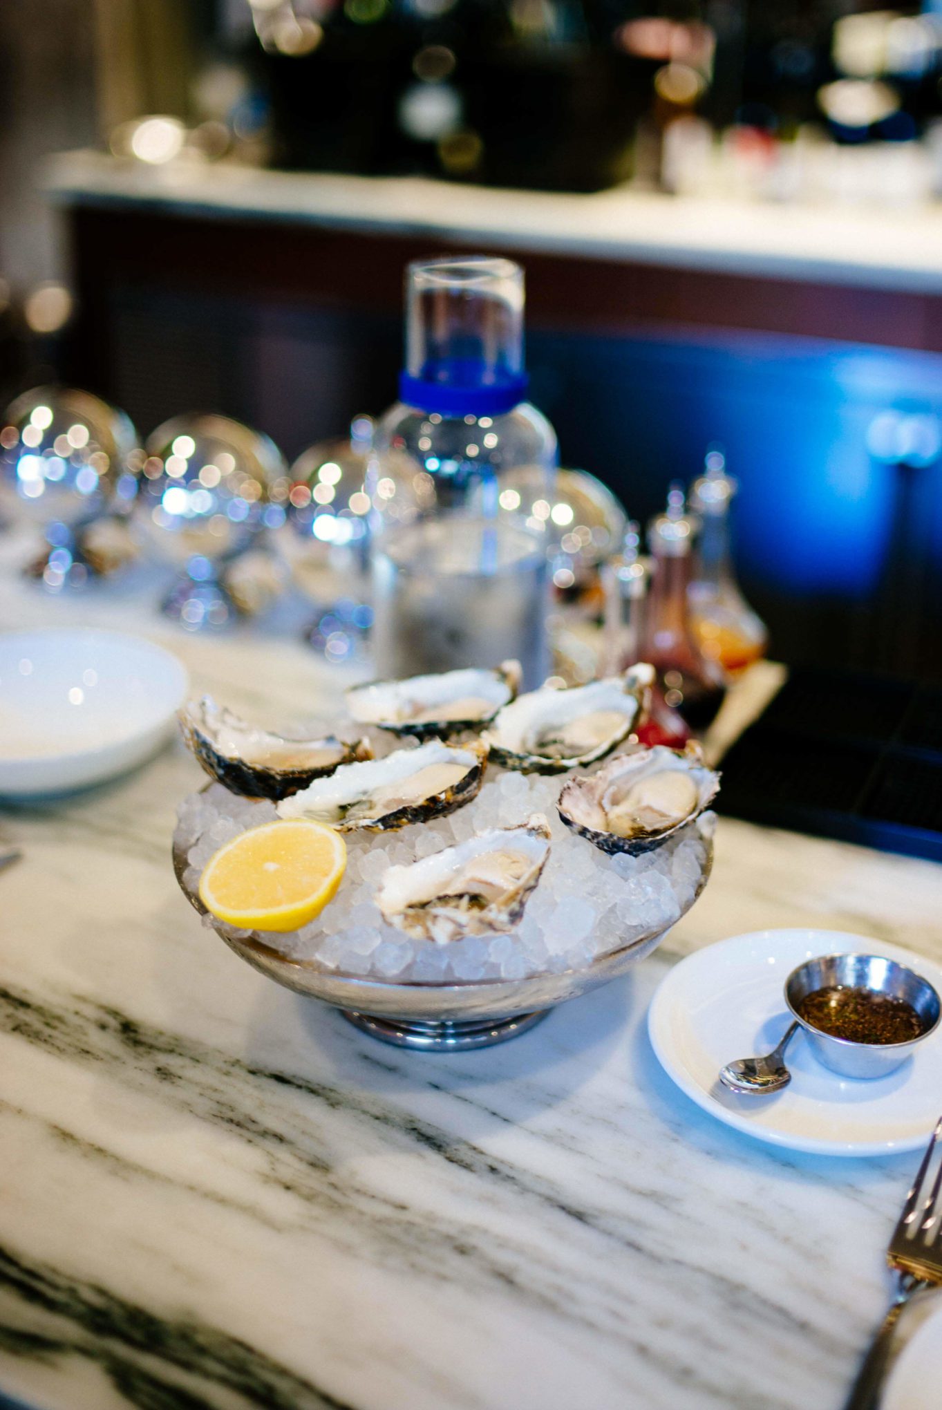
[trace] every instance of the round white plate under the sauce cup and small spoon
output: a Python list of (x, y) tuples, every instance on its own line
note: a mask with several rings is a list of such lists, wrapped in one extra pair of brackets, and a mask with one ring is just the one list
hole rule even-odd
[(802, 960), (845, 950), (887, 955), (942, 993), (942, 969), (894, 945), (843, 931), (756, 931), (697, 950), (661, 983), (647, 1014), (652, 1045), (681, 1091), (759, 1141), (822, 1155), (887, 1155), (926, 1144), (942, 1111), (942, 1029), (897, 1072), (853, 1080), (828, 1072), (801, 1032), (788, 1045), (791, 1083), (739, 1097), (719, 1081), (733, 1058), (770, 1052), (788, 1026), (783, 987)]

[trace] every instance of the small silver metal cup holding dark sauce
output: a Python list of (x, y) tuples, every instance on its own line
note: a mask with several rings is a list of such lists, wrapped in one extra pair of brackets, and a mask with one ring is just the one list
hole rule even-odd
[[(903, 1043), (863, 1043), (825, 1034), (798, 1010), (808, 994), (838, 986), (904, 1000), (919, 1015), (922, 1032)], [(928, 980), (880, 955), (825, 955), (805, 960), (785, 980), (785, 1003), (804, 1028), (818, 1062), (842, 1077), (886, 1077), (895, 1072), (912, 1049), (935, 1032), (942, 1011), (939, 995)]]

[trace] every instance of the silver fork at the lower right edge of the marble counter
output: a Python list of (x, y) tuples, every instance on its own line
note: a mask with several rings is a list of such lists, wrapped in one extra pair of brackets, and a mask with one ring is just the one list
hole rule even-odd
[(895, 1325), (903, 1308), (917, 1293), (942, 1283), (942, 1239), (939, 1238), (942, 1162), (939, 1162), (929, 1193), (925, 1193), (929, 1187), (929, 1167), (941, 1134), (942, 1117), (935, 1124), (935, 1131), (922, 1156), (922, 1165), (907, 1194), (900, 1222), (893, 1231), (887, 1249), (887, 1263), (897, 1275), (897, 1296), (873, 1340), (845, 1410), (876, 1410), (890, 1365)]

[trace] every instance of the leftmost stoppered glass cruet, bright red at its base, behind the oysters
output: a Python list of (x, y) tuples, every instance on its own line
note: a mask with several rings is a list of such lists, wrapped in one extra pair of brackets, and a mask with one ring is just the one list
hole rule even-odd
[[(652, 568), (640, 557), (640, 532), (635, 520), (625, 530), (622, 551), (602, 570), (605, 594), (604, 675), (620, 675), (636, 661), (644, 660), (647, 644), (647, 609)], [(635, 732), (642, 744), (683, 747), (690, 739), (690, 728), (677, 709), (667, 704), (660, 680), (654, 682), (647, 719)]]

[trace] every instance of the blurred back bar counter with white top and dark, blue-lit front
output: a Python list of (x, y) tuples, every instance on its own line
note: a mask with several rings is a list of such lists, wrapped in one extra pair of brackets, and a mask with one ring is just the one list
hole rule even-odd
[(289, 457), (395, 399), (406, 261), (526, 266), (533, 400), (563, 462), (663, 506), (719, 441), (771, 650), (942, 677), (942, 206), (148, 166), (45, 173), (78, 317), (68, 376), (142, 431), (213, 409)]

